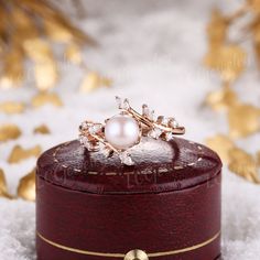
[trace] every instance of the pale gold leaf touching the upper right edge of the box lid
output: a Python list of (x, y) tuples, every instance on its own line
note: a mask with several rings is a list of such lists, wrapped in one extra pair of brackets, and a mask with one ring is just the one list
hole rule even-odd
[(234, 141), (225, 134), (216, 134), (206, 139), (206, 144), (216, 151), (225, 163), (230, 161), (229, 151), (236, 147)]

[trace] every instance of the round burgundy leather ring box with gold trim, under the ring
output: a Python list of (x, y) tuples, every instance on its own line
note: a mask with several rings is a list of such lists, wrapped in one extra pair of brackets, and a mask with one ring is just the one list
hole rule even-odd
[(214, 260), (220, 257), (221, 162), (184, 139), (143, 138), (134, 165), (78, 141), (36, 169), (39, 260)]

